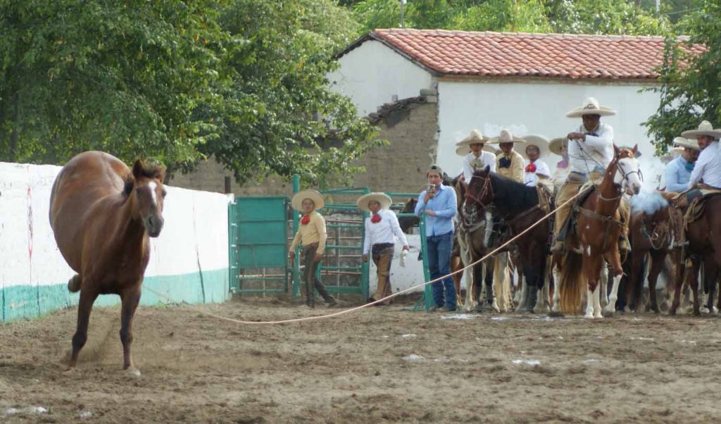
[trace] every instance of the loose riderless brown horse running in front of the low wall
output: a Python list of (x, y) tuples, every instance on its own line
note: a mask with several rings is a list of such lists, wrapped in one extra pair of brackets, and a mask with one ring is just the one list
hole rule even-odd
[(123, 368), (133, 366), (133, 314), (150, 259), (148, 237), (163, 228), (161, 167), (139, 160), (131, 172), (123, 162), (100, 151), (75, 156), (61, 169), (50, 195), (50, 226), (63, 257), (77, 274), (68, 290), (80, 291), (77, 330), (70, 367), (87, 340), (90, 310), (99, 294), (118, 294)]

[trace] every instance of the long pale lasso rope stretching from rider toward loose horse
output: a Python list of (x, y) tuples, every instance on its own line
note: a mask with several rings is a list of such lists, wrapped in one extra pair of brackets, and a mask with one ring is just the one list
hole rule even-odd
[[(288, 323), (290, 323), (290, 322), (313, 321), (313, 320), (316, 320), (316, 319), (325, 319), (325, 318), (330, 318), (330, 317), (337, 317), (337, 316), (343, 315), (343, 314), (350, 314), (350, 312), (355, 312), (355, 311), (358, 311), (358, 310), (360, 310), (360, 309), (366, 308), (366, 307), (368, 307), (368, 306), (373, 306), (374, 304), (378, 304), (378, 303), (380, 303), (380, 302), (382, 302), (382, 301), (386, 301), (387, 299), (392, 299), (392, 298), (394, 298), (395, 296), (399, 296), (399, 295), (401, 295), (402, 293), (406, 293), (407, 291), (414, 290), (415, 288), (420, 288), (420, 287), (426, 286), (426, 285), (428, 285), (428, 284), (435, 283), (436, 281), (441, 281), (441, 280), (443, 280), (444, 278), (448, 278), (448, 277), (451, 276), (451, 275), (454, 275), (454, 274), (456, 274), (456, 273), (460, 273), (461, 271), (464, 271), (464, 270), (466, 270), (466, 269), (468, 269), (468, 268), (471, 268), (471, 267), (473, 267), (474, 265), (477, 265), (479, 262), (483, 262), (483, 261), (486, 260), (488, 257), (491, 257), (492, 255), (495, 255), (495, 253), (498, 252), (500, 249), (503, 249), (504, 247), (508, 246), (508, 244), (510, 244), (510, 243), (513, 242), (514, 240), (518, 239), (518, 237), (521, 237), (523, 234), (526, 234), (526, 232), (531, 231), (531, 229), (533, 229), (535, 226), (541, 224), (541, 222), (543, 222), (545, 219), (549, 218), (549, 216), (552, 216), (554, 213), (556, 213), (556, 211), (557, 211), (558, 209), (562, 208), (563, 206), (566, 206), (566, 205), (567, 205), (568, 203), (570, 203), (572, 200), (575, 200), (575, 198), (578, 198), (578, 196), (581, 195), (581, 194), (582, 194), (581, 192), (576, 193), (576, 194), (573, 195), (571, 198), (569, 198), (568, 200), (566, 200), (562, 205), (558, 206), (558, 207), (555, 208), (553, 211), (550, 211), (549, 213), (547, 213), (545, 216), (543, 216), (542, 218), (540, 218), (538, 221), (536, 221), (534, 224), (532, 224), (531, 226), (529, 226), (527, 229), (525, 229), (525, 230), (521, 231), (520, 233), (518, 233), (518, 235), (516, 235), (516, 236), (514, 236), (513, 238), (509, 239), (508, 242), (505, 242), (505, 243), (501, 244), (499, 247), (496, 247), (496, 248), (493, 249), (490, 253), (488, 253), (488, 254), (485, 255), (484, 257), (480, 258), (479, 260), (477, 260), (477, 261), (475, 261), (475, 262), (473, 262), (473, 263), (471, 263), (471, 264), (469, 264), (469, 265), (466, 265), (465, 268), (461, 268), (461, 269), (459, 269), (459, 270), (456, 270), (456, 271), (454, 271), (453, 273), (449, 273), (449, 274), (446, 274), (446, 275), (442, 275), (441, 277), (435, 278), (435, 280), (426, 281), (425, 283), (420, 283), (420, 284), (417, 284), (417, 285), (415, 285), (415, 286), (411, 286), (411, 287), (409, 287), (409, 288), (404, 288), (403, 290), (398, 291), (398, 292), (396, 292), (396, 293), (392, 293), (391, 295), (386, 296), (386, 297), (384, 297), (384, 298), (382, 298), (382, 299), (378, 299), (378, 300), (376, 300), (376, 301), (369, 302), (369, 303), (363, 304), (363, 305), (361, 305), (361, 306), (355, 306), (354, 308), (350, 308), (350, 309), (343, 309), (342, 311), (334, 312), (334, 313), (332, 313), (332, 314), (317, 315), (317, 316), (315, 316), (315, 317), (303, 317), (303, 318), (293, 318), (293, 319), (280, 319), (280, 320), (277, 320), (277, 321), (245, 321), (245, 320), (243, 320), (243, 319), (234, 319), (234, 318), (228, 318), (228, 317), (221, 317), (220, 315), (216, 315), (216, 314), (213, 314), (213, 313), (211, 313), (211, 312), (200, 311), (200, 310), (198, 310), (198, 309), (196, 309), (196, 312), (198, 312), (199, 314), (207, 315), (208, 317), (213, 317), (213, 318), (221, 319), (221, 320), (227, 321), (227, 322), (234, 322), (234, 323), (236, 323), (236, 324), (262, 324), (262, 325), (267, 325), (267, 324), (288, 324)], [(162, 298), (162, 299), (166, 299), (166, 300), (169, 301), (170, 303), (175, 303), (175, 302), (172, 301), (172, 299), (170, 299), (169, 297), (164, 296), (162, 293), (158, 293), (157, 291), (154, 291), (154, 290), (151, 289), (151, 288), (144, 287), (143, 290), (150, 291), (151, 293), (154, 293), (156, 296), (158, 296), (158, 297), (160, 297), (160, 298)], [(188, 304), (188, 303), (185, 302), (185, 301), (183, 301), (182, 303), (183, 303), (183, 304), (190, 305), (190, 304)]]

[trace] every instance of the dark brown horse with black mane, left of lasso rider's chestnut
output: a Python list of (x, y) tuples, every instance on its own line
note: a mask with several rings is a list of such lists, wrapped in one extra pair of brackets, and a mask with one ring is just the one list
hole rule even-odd
[[(528, 187), (490, 172), (490, 167), (474, 172), (466, 193), (466, 199), (472, 200), (474, 206), (492, 208), (494, 216), (503, 218), (510, 226), (511, 235), (520, 234), (541, 219), (545, 212), (540, 206), (536, 187)], [(552, 209), (552, 201), (549, 200)], [(521, 268), (526, 286), (526, 304), (528, 312), (534, 312), (538, 299), (538, 290), (544, 288), (547, 275), (547, 259), (549, 257), (549, 234), (552, 225), (548, 220), (523, 234), (516, 240), (520, 252)], [(547, 287), (547, 285), (545, 285)], [(547, 291), (544, 291), (547, 293)], [(548, 306), (546, 294), (544, 306)]]

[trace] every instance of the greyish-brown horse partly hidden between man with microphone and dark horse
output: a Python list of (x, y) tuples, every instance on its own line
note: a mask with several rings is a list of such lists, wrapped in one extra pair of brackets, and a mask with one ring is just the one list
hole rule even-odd
[[(492, 225), (492, 223), (489, 219), (490, 216), (478, 213), (479, 208), (469, 208), (469, 210), (466, 210), (464, 204), (468, 185), (461, 180), (460, 175), (454, 180), (454, 187), (456, 188), (456, 207), (459, 218), (455, 237), (460, 248), (461, 266), (467, 267), (486, 254), (484, 234), (486, 233), (487, 226)], [(470, 311), (475, 306), (476, 310), (481, 312), (483, 308), (487, 306), (496, 312), (501, 312), (493, 294), (492, 258), (473, 265), (467, 271), (468, 272), (463, 273), (466, 279), (466, 301), (464, 302), (464, 310)], [(480, 302), (482, 278), (486, 286), (486, 299), (493, 299), (492, 303), (487, 305)]]

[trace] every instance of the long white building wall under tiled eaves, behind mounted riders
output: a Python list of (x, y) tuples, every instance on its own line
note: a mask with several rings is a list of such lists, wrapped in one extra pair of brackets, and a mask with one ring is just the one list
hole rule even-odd
[[(566, 118), (567, 111), (579, 107), (586, 97), (596, 97), (601, 105), (616, 110), (617, 115), (601, 118), (614, 128), (617, 145), (638, 143), (645, 175), (645, 186), (655, 187), (656, 175), (663, 164), (653, 157), (655, 148), (641, 123), (659, 104), (658, 94), (639, 93), (639, 85), (558, 84), (558, 83), (483, 83), (438, 82), (438, 163), (448, 175), (461, 170), (461, 157), (454, 144), (473, 128), (486, 136), (497, 136), (508, 128), (518, 136), (537, 134), (546, 138), (565, 136), (578, 128), (580, 118)], [(551, 155), (552, 168), (561, 158)], [(553, 169), (552, 169), (553, 170)]]

